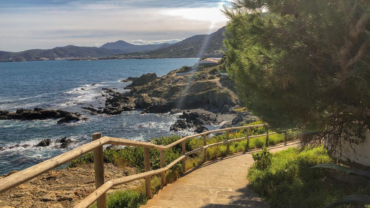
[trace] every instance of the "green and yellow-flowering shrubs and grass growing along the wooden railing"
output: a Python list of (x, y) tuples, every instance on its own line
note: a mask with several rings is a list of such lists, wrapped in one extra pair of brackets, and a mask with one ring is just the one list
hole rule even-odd
[[(260, 124), (261, 121), (250, 123), (249, 125)], [(265, 134), (265, 128), (256, 127), (250, 128), (250, 135)], [(230, 134), (230, 139), (246, 137), (246, 131), (239, 130)], [(168, 145), (176, 140), (180, 139), (178, 135), (171, 137), (154, 138), (152, 142), (158, 145)], [(207, 140), (207, 144), (220, 142), (226, 140), (226, 133), (221, 135), (215, 135)], [(230, 142), (229, 152), (226, 150), (225, 145), (217, 145), (214, 147), (207, 148), (207, 154), (209, 160), (226, 156), (227, 154), (233, 154), (235, 152), (248, 151), (256, 148), (262, 148), (265, 145), (266, 137), (258, 137), (247, 140)], [(284, 141), (284, 135), (273, 134), (269, 136), (269, 145), (275, 145)], [(186, 140), (185, 148), (186, 152), (195, 150), (203, 146), (203, 138), (192, 138)], [(174, 147), (165, 151), (165, 165), (168, 165), (175, 159), (181, 156), (181, 144), (175, 145)], [(141, 147), (124, 147), (120, 150), (110, 149), (104, 150), (103, 152), (104, 162), (112, 163), (114, 165), (127, 165), (129, 167), (136, 168), (137, 172), (144, 171), (144, 150)], [(151, 158), (151, 169), (155, 170), (160, 168), (159, 151), (150, 149)], [(69, 167), (77, 167), (79, 165), (85, 165), (92, 163), (93, 157), (92, 152), (85, 154), (69, 163)], [(203, 163), (203, 151), (186, 157), (186, 170), (189, 170), (197, 165)], [(172, 167), (169, 171), (166, 171), (166, 181), (168, 183), (175, 181), (182, 174), (181, 162)], [(161, 189), (161, 181), (158, 175), (152, 177), (152, 194), (156, 194)], [(134, 188), (127, 190), (118, 190), (113, 194), (107, 196), (107, 207), (138, 207), (139, 205), (146, 204), (147, 198), (145, 197), (145, 184), (144, 182)], [(96, 207), (96, 205), (94, 205)], [(94, 207), (93, 206), (93, 207)]]

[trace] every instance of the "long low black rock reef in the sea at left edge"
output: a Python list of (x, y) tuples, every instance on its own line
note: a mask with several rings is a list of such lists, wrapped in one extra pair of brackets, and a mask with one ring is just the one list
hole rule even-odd
[(18, 109), (16, 112), (0, 111), (0, 120), (42, 120), (48, 118), (61, 118), (58, 124), (70, 123), (72, 121), (87, 120), (79, 113), (70, 113), (63, 110), (34, 108), (34, 110)]

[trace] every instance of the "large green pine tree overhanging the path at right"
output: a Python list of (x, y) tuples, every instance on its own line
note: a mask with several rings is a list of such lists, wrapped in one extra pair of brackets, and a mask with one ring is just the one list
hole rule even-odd
[(272, 127), (309, 132), (301, 134), (306, 145), (325, 141), (331, 153), (362, 142), (369, 9), (362, 0), (237, 0), (225, 8), (227, 70), (245, 106)]

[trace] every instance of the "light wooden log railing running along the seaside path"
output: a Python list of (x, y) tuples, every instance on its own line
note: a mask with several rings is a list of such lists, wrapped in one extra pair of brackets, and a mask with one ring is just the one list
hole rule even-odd
[[(110, 188), (126, 184), (131, 181), (136, 181), (142, 178), (145, 178), (145, 191), (148, 199), (151, 199), (152, 193), (151, 193), (151, 176), (155, 174), (161, 174), (161, 182), (162, 185), (166, 185), (166, 178), (165, 178), (165, 171), (169, 170), (172, 166), (174, 166), (176, 163), (182, 161), (182, 168), (185, 172), (185, 160), (186, 156), (194, 154), (195, 152), (204, 151), (204, 161), (207, 160), (207, 148), (212, 147), (215, 145), (221, 145), (221, 144), (227, 144), (227, 152), (229, 152), (229, 143), (231, 141), (239, 141), (239, 140), (247, 140), (247, 144), (249, 144), (250, 138), (255, 137), (264, 137), (266, 136), (266, 146), (268, 146), (269, 142), (269, 135), (276, 134), (276, 132), (269, 133), (269, 130), (267, 128), (266, 134), (261, 135), (249, 135), (249, 128), (251, 127), (262, 127), (266, 124), (260, 124), (260, 125), (249, 125), (249, 126), (242, 126), (242, 127), (231, 127), (231, 128), (223, 128), (219, 130), (212, 130), (212, 131), (205, 131), (200, 134), (194, 134), (186, 137), (182, 137), (181, 139), (172, 142), (169, 145), (156, 145), (150, 142), (141, 142), (141, 141), (132, 141), (132, 140), (125, 140), (122, 138), (115, 138), (115, 137), (102, 137), (101, 132), (97, 132), (92, 134), (92, 142), (88, 144), (84, 144), (78, 148), (75, 148), (71, 151), (65, 152), (61, 155), (58, 155), (54, 158), (51, 158), (49, 160), (46, 160), (44, 162), (41, 162), (37, 165), (34, 165), (32, 167), (29, 167), (23, 171), (19, 171), (17, 173), (14, 173), (12, 175), (9, 175), (8, 177), (0, 179), (0, 193), (3, 193), (9, 189), (12, 189), (20, 184), (23, 184), (24, 182), (27, 182), (47, 171), (50, 171), (60, 165), (63, 165), (71, 160), (74, 160), (75, 158), (80, 157), (81, 155), (84, 155), (90, 151), (93, 151), (94, 154), (94, 171), (95, 171), (95, 191), (92, 192), (88, 197), (83, 199), (80, 203), (78, 203), (75, 208), (85, 208), (89, 207), (91, 204), (93, 204), (95, 201), (97, 201), (98, 208), (105, 208), (106, 205), (106, 198), (105, 198), (105, 192), (107, 192)], [(246, 128), (247, 129), (247, 136), (236, 138), (236, 139), (229, 139), (230, 131), (238, 130)], [(207, 145), (207, 134), (212, 134), (215, 132), (221, 132), (226, 131), (226, 140), (221, 142), (216, 142), (213, 144)], [(203, 137), (203, 147), (198, 148), (196, 150), (186, 152), (185, 151), (185, 141), (189, 138), (195, 138), (195, 137)], [(285, 134), (285, 144), (287, 141), (287, 136)], [(182, 155), (171, 162), (170, 164), (165, 166), (164, 161), (164, 151), (168, 148), (174, 147), (176, 144), (182, 144)], [(132, 146), (132, 147), (143, 147), (144, 148), (144, 170), (145, 172), (130, 175), (127, 177), (122, 178), (116, 178), (109, 181), (104, 181), (104, 161), (103, 161), (103, 145), (105, 144), (114, 144), (114, 145), (126, 145), (126, 146)], [(159, 150), (159, 158), (161, 161), (161, 168), (157, 170), (150, 170), (150, 157), (149, 157), (149, 148), (157, 149)]]

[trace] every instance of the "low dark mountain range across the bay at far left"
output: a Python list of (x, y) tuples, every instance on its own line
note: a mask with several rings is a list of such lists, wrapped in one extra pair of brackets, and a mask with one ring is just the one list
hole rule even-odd
[(117, 49), (106, 49), (97, 47), (63, 46), (51, 49), (31, 49), (21, 52), (0, 51), (0, 62), (13, 61), (44, 61), (61, 60), (85, 57), (104, 57), (118, 53), (126, 53)]

